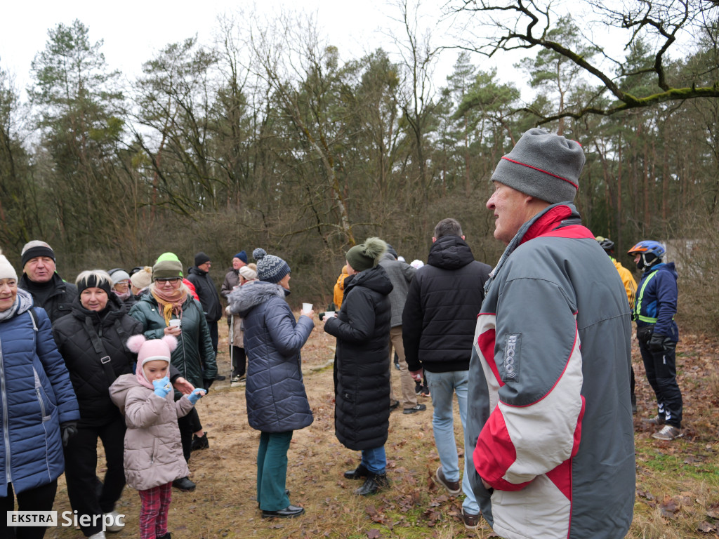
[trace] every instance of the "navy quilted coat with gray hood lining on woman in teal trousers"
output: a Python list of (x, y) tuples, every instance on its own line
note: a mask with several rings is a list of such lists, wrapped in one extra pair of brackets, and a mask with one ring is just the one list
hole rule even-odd
[(285, 289), (271, 282), (243, 285), (229, 295), (229, 301), (232, 313), (244, 320), (249, 426), (282, 433), (311, 425), (300, 349), (314, 322), (308, 316), (295, 321)]

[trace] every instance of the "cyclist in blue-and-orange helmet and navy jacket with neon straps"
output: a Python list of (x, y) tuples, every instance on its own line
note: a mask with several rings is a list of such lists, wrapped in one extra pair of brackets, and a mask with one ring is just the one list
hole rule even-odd
[(633, 318), (646, 379), (656, 395), (657, 413), (643, 421), (661, 427), (651, 436), (669, 441), (682, 436), (682, 392), (677, 384), (679, 328), (674, 322), (677, 270), (674, 262), (662, 262), (665, 252), (658, 241), (646, 240), (629, 249), (628, 254), (641, 270)]

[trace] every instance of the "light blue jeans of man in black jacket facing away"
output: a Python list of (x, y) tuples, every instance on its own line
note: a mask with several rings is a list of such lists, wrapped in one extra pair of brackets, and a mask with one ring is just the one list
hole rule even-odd
[[(439, 462), (447, 481), (459, 481), (459, 457), (457, 456), (457, 441), (454, 440), (454, 413), (452, 411), (452, 396), (457, 393), (459, 404), (459, 419), (462, 420), (464, 432), (464, 446), (467, 447), (467, 388), (469, 385), (469, 371), (452, 372), (424, 372), (429, 385), (429, 395), (432, 397), (434, 413), (432, 415), (432, 430), (434, 431), (434, 444), (439, 453)], [(467, 473), (467, 458), (464, 458), (464, 478), (462, 479), (462, 492), (464, 512), (477, 515), (480, 506), (477, 505), (475, 493), (470, 485), (470, 474)]]

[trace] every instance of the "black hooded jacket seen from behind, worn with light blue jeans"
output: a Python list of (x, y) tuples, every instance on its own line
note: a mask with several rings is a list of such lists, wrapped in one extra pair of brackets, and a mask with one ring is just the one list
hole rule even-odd
[(485, 295), (487, 264), (475, 261), (459, 236), (442, 236), (410, 284), (402, 313), (402, 341), (409, 370), (466, 371)]

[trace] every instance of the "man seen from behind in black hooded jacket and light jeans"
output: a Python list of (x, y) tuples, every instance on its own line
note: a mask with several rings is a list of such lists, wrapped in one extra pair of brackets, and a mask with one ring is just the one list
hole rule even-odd
[(424, 369), (434, 405), (432, 429), (440, 462), (435, 479), (450, 494), (464, 492), (462, 517), (471, 529), (479, 525), (480, 510), (466, 468), (464, 482), (459, 484), (452, 395), (457, 393), (466, 432), (472, 338), (490, 270), (487, 264), (475, 261), (459, 222), (442, 219), (434, 227), (429, 259), (411, 282), (402, 313), (408, 369), (416, 380), (422, 379)]

